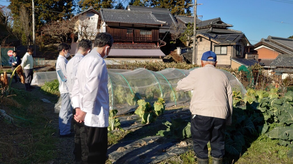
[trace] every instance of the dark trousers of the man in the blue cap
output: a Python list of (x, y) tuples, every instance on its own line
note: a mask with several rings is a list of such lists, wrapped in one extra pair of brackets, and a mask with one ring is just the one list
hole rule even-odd
[(225, 128), (226, 120), (222, 118), (200, 115), (191, 117), (193, 151), (198, 158), (208, 159), (208, 142), (212, 157), (222, 158), (225, 155)]

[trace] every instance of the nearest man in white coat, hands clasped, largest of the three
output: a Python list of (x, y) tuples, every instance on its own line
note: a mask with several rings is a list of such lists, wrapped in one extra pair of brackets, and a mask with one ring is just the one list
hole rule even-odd
[(105, 163), (108, 147), (109, 93), (105, 59), (113, 45), (108, 33), (97, 34), (94, 49), (79, 62), (72, 89), (74, 119), (84, 121), (88, 163)]

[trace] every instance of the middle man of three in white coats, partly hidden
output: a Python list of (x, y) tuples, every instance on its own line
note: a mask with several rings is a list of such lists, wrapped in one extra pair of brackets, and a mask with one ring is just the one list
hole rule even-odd
[[(74, 79), (76, 76), (77, 72), (77, 67), (79, 65), (80, 60), (86, 56), (92, 49), (92, 44), (93, 42), (88, 40), (88, 39), (82, 39), (78, 43), (78, 51), (70, 59), (66, 65), (66, 75), (67, 75), (67, 87), (69, 91), (69, 96), (70, 99), (72, 99), (71, 93), (72, 93), (72, 88), (74, 84)], [(71, 101), (71, 105), (73, 106), (73, 103)], [(80, 111), (78, 111), (80, 112)], [(76, 111), (73, 109), (72, 113), (75, 115)], [(76, 120), (73, 121), (73, 127), (75, 131), (75, 136), (74, 136), (74, 151), (73, 153), (75, 154), (75, 160), (76, 161), (82, 161), (83, 164), (87, 163), (87, 156), (88, 156), (88, 146), (86, 146), (86, 131), (84, 128), (84, 122), (79, 123)]]

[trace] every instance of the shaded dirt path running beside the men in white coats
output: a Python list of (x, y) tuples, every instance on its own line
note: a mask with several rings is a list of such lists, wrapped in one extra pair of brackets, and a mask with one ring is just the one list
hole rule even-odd
[[(10, 80), (10, 79), (8, 79)], [(11, 83), (12, 88), (17, 88), (25, 90), (25, 85), (22, 83), (15, 83), (14, 80)], [(59, 123), (58, 118), (59, 114), (54, 113), (54, 105), (58, 101), (57, 95), (46, 95), (40, 90), (40, 86), (34, 86), (35, 88), (30, 91), (32, 95), (38, 97), (38, 99), (47, 99), (50, 102), (43, 102), (42, 105), (47, 109), (45, 114), (51, 125), (55, 128), (55, 132), (52, 134), (52, 137), (57, 139), (56, 145), (56, 158), (52, 161), (48, 161), (49, 164), (75, 164), (74, 162), (74, 137), (70, 138), (59, 138)]]

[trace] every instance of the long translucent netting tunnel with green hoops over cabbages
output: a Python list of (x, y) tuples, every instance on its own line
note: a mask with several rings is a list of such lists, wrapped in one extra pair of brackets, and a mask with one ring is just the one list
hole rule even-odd
[[(117, 109), (118, 115), (126, 114), (138, 107), (136, 100), (145, 99), (148, 102), (154, 102), (158, 97), (166, 101), (166, 107), (188, 104), (192, 93), (176, 91), (175, 88), (178, 81), (188, 76), (193, 69), (168, 68), (157, 72), (144, 68), (133, 71), (108, 69), (110, 109)], [(228, 71), (221, 71), (229, 78), (233, 90), (239, 90), (242, 94), (246, 93), (245, 88), (234, 75)]]

